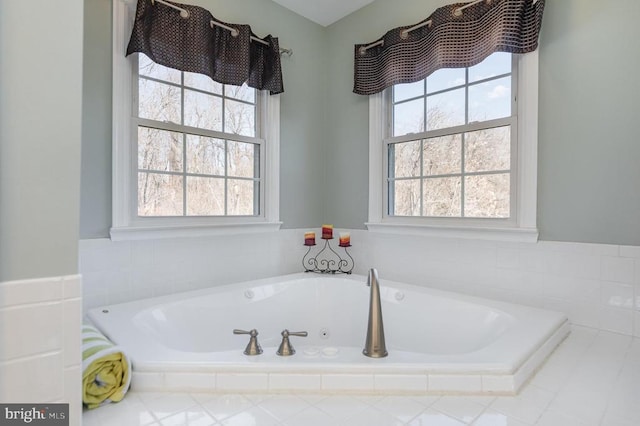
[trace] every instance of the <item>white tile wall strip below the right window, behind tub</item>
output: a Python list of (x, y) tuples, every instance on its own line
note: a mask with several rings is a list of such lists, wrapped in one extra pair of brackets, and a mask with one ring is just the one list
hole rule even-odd
[[(564, 312), (640, 336), (640, 247), (508, 243), (352, 231), (358, 273)], [(355, 247), (354, 247), (355, 248)]]

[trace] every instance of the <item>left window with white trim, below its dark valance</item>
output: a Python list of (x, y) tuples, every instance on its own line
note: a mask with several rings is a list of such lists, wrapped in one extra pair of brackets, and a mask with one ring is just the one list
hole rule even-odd
[(275, 230), (279, 96), (124, 56), (114, 3), (112, 239)]

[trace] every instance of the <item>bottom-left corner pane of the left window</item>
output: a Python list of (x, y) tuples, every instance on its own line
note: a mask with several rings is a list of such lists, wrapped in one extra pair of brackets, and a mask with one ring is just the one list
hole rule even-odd
[(138, 216), (182, 216), (182, 177), (138, 173)]

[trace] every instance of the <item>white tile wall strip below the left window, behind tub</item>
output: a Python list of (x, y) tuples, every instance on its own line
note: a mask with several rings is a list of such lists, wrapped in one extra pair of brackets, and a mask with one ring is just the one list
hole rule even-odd
[(81, 240), (84, 309), (299, 272), (303, 232)]

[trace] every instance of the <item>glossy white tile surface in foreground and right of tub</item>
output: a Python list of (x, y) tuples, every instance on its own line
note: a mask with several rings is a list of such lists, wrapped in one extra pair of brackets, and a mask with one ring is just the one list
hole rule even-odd
[(640, 339), (574, 327), (515, 397), (129, 392), (84, 426), (634, 426)]

